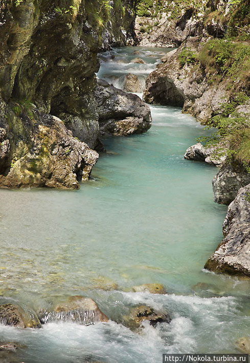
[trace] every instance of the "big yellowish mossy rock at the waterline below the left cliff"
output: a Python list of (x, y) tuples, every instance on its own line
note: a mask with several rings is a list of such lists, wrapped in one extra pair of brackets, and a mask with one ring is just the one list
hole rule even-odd
[(59, 118), (35, 109), (33, 117), (9, 114), (13, 119), (4, 125), (8, 132), (0, 146), (1, 187), (77, 189), (79, 180), (88, 179), (98, 153), (75, 139)]

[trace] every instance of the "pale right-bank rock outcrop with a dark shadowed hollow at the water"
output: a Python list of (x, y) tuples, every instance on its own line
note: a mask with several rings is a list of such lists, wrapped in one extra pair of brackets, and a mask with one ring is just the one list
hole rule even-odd
[(200, 50), (200, 40), (190, 37), (177, 50), (172, 50), (162, 58), (146, 79), (144, 101), (183, 107), (183, 111), (192, 114), (201, 124), (220, 112), (221, 103), (228, 96), (226, 83), (211, 86), (202, 68), (180, 64), (181, 51), (188, 48), (194, 53)]

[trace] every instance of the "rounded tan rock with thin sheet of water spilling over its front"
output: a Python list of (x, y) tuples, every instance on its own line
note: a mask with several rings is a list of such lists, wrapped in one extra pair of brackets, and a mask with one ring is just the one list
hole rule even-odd
[(99, 309), (94, 300), (78, 295), (69, 297), (52, 310), (42, 311), (39, 318), (42, 324), (62, 321), (93, 325), (108, 321), (107, 316)]

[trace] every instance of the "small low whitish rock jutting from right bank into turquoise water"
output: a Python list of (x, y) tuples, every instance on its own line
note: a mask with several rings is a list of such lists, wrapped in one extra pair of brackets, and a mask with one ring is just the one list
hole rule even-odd
[(200, 142), (198, 142), (187, 149), (184, 158), (188, 160), (205, 161), (208, 164), (221, 166), (225, 162), (226, 156), (217, 157), (213, 155), (218, 147), (219, 146), (204, 147)]

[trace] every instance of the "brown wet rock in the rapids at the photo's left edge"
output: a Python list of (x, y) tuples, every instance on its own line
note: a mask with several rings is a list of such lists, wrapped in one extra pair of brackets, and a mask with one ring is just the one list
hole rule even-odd
[(4, 304), (0, 306), (0, 323), (18, 328), (41, 327), (35, 312), (25, 311), (16, 304)]

